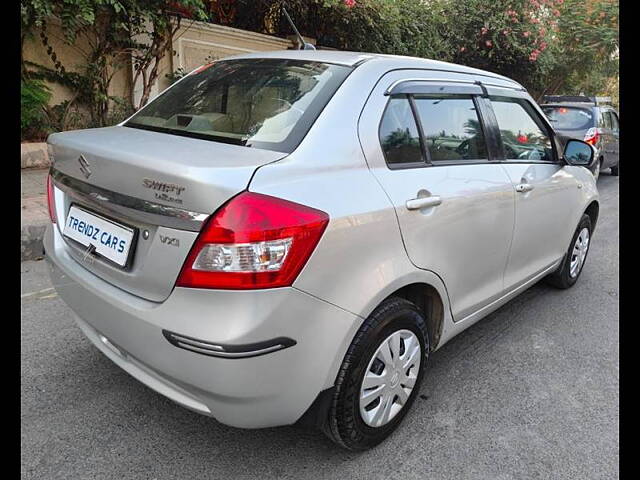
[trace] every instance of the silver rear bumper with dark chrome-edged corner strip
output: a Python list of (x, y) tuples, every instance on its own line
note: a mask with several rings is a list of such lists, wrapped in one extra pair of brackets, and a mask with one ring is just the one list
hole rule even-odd
[[(47, 228), (44, 244), (55, 289), (96, 347), (157, 392), (227, 425), (295, 423), (321, 391), (333, 386), (359, 323), (352, 313), (295, 288), (175, 288), (166, 301), (149, 302), (69, 257), (57, 229)], [(180, 348), (163, 332), (228, 351), (274, 339), (295, 344), (224, 358)]]

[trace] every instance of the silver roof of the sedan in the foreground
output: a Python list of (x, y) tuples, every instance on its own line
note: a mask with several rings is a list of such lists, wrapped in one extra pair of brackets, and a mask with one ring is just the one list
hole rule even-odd
[(466, 67), (456, 63), (441, 62), (439, 60), (431, 60), (428, 58), (407, 57), (402, 55), (387, 55), (382, 53), (366, 53), (366, 52), (348, 52), (343, 50), (276, 50), (271, 52), (255, 52), (242, 55), (234, 55), (227, 57), (228, 59), (244, 59), (244, 58), (282, 58), (291, 60), (307, 60), (323, 63), (333, 63), (337, 65), (345, 65), (354, 67), (368, 61), (386, 62), (390, 68), (416, 68), (428, 70), (444, 70), (456, 73), (469, 73), (474, 75), (483, 75), (501, 80), (506, 80), (519, 87), (518, 82), (508, 77), (498, 75), (497, 73), (480, 70), (478, 68)]

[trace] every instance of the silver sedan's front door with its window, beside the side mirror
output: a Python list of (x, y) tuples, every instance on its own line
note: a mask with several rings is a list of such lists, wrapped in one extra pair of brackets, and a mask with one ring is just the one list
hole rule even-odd
[(525, 92), (489, 89), (502, 164), (515, 189), (515, 226), (505, 288), (553, 266), (569, 246), (579, 207), (576, 169), (559, 161), (552, 129)]

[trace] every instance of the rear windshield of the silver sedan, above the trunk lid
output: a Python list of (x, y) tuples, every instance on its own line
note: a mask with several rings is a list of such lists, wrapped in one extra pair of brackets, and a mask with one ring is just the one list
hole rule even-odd
[(351, 70), (284, 59), (214, 62), (125, 126), (291, 153)]

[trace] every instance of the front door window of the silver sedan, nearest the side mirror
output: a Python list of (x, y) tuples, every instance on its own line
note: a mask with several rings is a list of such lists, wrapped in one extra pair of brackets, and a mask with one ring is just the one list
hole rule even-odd
[(525, 101), (492, 97), (491, 105), (507, 160), (554, 161), (551, 136)]

